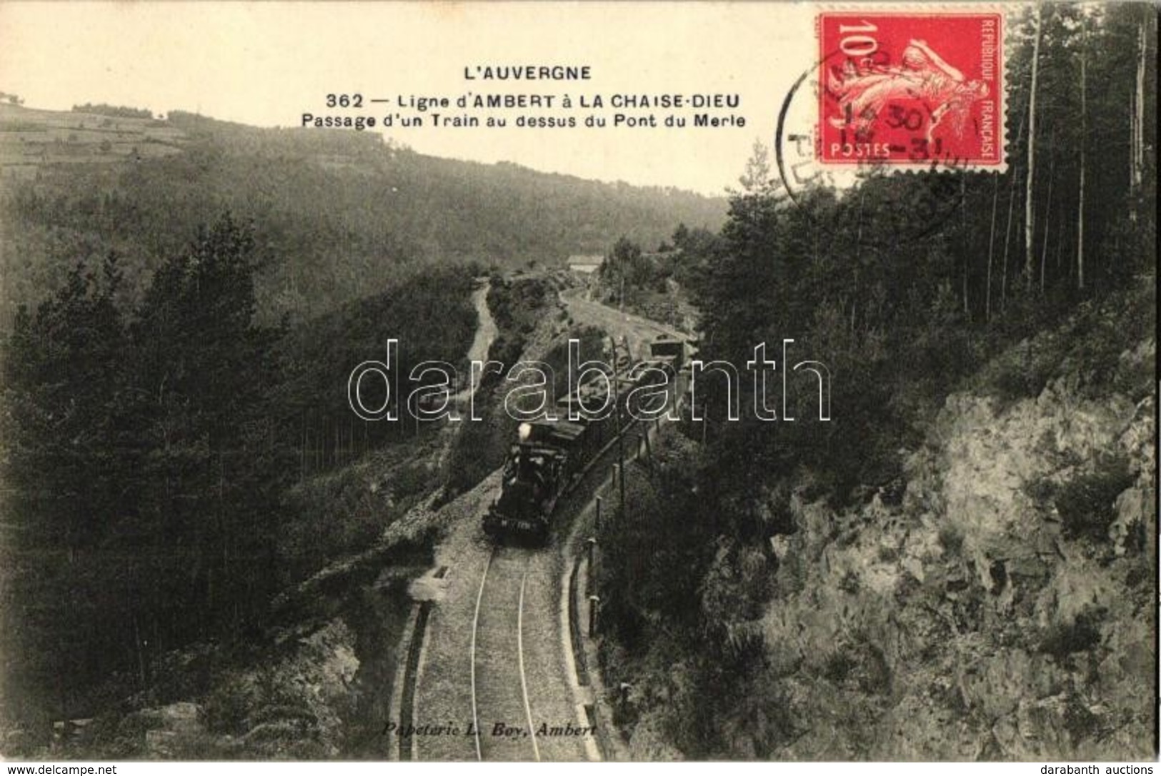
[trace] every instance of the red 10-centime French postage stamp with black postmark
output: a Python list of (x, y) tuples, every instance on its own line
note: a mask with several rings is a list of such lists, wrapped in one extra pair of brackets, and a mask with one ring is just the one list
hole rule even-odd
[(821, 162), (1003, 167), (1002, 14), (851, 10), (817, 28)]

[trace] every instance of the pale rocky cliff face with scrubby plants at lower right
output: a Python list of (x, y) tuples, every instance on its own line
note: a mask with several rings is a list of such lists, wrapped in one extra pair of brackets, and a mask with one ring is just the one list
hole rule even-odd
[(899, 488), (792, 499), (758, 680), (780, 713), (740, 716), (735, 756), (1153, 756), (1155, 342), (1099, 370), (1069, 347), (1034, 396), (950, 396)]

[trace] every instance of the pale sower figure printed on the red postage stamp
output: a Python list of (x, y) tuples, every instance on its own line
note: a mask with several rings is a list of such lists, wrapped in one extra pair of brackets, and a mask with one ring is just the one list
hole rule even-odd
[(843, 78), (830, 75), (828, 87), (838, 99), (842, 116), (830, 118), (836, 128), (853, 125), (854, 136), (866, 138), (882, 108), (892, 100), (921, 100), (931, 121), (926, 138), (945, 118), (957, 137), (962, 137), (972, 103), (988, 96), (983, 81), (967, 80), (956, 67), (928, 46), (911, 39), (903, 49), (902, 64), (859, 73), (848, 63)]

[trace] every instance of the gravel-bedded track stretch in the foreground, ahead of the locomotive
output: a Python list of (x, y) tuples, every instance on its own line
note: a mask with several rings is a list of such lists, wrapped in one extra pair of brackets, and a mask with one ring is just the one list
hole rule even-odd
[(403, 676), (398, 724), (450, 732), (401, 737), (401, 760), (597, 756), (564, 665), (561, 563), (551, 550), (497, 545), (449, 572), (448, 597), (412, 636), (417, 669)]

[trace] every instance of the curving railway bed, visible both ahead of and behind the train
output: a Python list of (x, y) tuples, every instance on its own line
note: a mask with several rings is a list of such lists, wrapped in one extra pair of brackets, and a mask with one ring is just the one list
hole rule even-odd
[[(567, 298), (570, 307), (582, 305)], [(639, 341), (659, 327), (584, 303), (582, 318), (608, 318), (611, 331)], [(676, 386), (675, 386), (675, 390)], [(625, 460), (641, 452), (649, 429), (622, 425), (561, 494), (548, 546), (496, 545), (481, 529), (483, 509), (444, 556), (439, 594), (419, 599), (401, 680), (401, 760), (576, 761), (599, 759), (591, 696), (575, 665), (575, 623), (569, 619), (569, 552), (575, 517), (610, 471), (623, 444)], [(636, 440), (637, 444), (633, 444)], [(474, 507), (476, 509), (476, 507)], [(466, 516), (467, 517), (467, 516)], [(444, 576), (442, 572), (450, 573)], [(574, 582), (575, 585), (575, 582)], [(576, 616), (576, 612), (571, 612)], [(470, 628), (469, 628), (470, 625)], [(585, 699), (589, 698), (589, 699)], [(440, 732), (432, 732), (435, 728)]]

